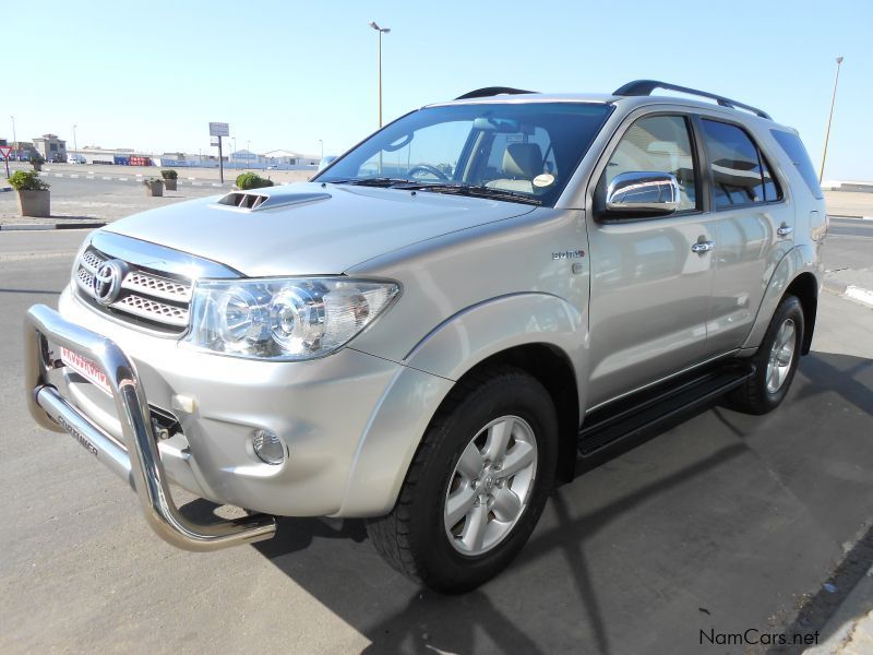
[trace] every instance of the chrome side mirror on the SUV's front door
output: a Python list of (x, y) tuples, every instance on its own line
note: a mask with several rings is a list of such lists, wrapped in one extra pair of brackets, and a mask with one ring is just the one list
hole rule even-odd
[(672, 214), (679, 209), (679, 182), (670, 172), (620, 172), (607, 189), (609, 214)]

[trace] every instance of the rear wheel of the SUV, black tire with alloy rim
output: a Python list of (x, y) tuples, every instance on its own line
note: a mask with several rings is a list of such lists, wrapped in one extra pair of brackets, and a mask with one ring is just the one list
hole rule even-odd
[(803, 308), (796, 296), (782, 298), (764, 341), (752, 357), (755, 374), (730, 394), (731, 405), (748, 414), (772, 412), (785, 398), (800, 360)]

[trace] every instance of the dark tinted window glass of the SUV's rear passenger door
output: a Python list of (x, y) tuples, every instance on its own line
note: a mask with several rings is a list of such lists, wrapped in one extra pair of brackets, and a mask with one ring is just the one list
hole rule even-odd
[(781, 198), (769, 166), (749, 134), (715, 120), (702, 123), (717, 210)]

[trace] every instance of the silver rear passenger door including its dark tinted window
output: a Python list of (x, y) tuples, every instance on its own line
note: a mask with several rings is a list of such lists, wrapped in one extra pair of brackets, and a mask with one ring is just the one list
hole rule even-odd
[(706, 349), (719, 354), (738, 348), (752, 329), (777, 264), (793, 247), (794, 209), (748, 129), (709, 116), (697, 124), (716, 217)]

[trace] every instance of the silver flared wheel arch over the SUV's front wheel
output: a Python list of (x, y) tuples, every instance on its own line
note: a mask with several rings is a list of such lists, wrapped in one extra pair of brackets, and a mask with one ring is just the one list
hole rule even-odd
[(586, 317), (550, 294), (498, 297), (446, 319), (404, 358), (373, 409), (336, 515), (390, 512), (433, 416), (457, 382), (500, 364), (528, 372), (551, 394), (560, 426), (555, 477), (572, 479), (586, 354)]

